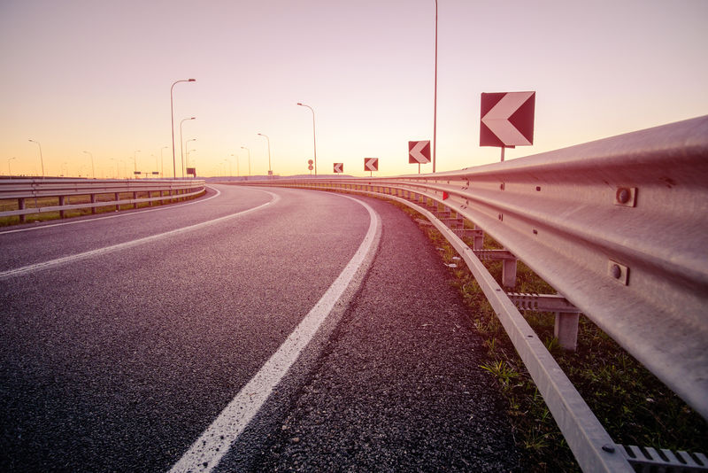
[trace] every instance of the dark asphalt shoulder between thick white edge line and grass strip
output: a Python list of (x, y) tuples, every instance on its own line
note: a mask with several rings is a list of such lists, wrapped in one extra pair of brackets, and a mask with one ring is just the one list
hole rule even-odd
[(260, 419), (266, 440), (237, 443), (217, 470), (518, 470), (481, 338), (435, 247), (395, 206), (363, 199), (383, 221), (365, 281), (306, 379), (278, 400), (287, 409)]

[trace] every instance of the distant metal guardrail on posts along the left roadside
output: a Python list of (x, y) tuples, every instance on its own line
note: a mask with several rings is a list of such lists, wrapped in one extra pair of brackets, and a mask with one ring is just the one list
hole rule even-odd
[[(0, 179), (0, 202), (16, 201), (17, 208), (0, 211), (0, 217), (17, 215), (25, 221), (28, 214), (58, 212), (61, 218), (67, 210), (133, 205), (147, 202), (176, 201), (195, 197), (204, 192), (203, 180), (167, 179)], [(126, 198), (126, 194), (128, 197)], [(138, 196), (143, 196), (139, 198)], [(87, 200), (74, 202), (71, 199)], [(41, 200), (41, 201), (40, 201)], [(27, 206), (27, 203), (34, 206)]]

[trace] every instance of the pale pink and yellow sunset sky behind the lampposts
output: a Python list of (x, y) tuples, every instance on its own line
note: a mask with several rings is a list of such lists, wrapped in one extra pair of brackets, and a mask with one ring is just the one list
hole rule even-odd
[[(514, 159), (708, 113), (708, 1), (438, 4), (437, 171), (480, 147), (482, 92), (535, 90)], [(411, 174), (433, 138), (434, 0), (0, 0), (0, 174)], [(167, 147), (167, 148), (165, 148)], [(138, 151), (139, 152), (135, 152)], [(83, 151), (89, 151), (85, 153)], [(164, 164), (160, 164), (160, 155)], [(235, 156), (231, 156), (231, 155)], [(135, 163), (134, 163), (135, 156)], [(14, 159), (13, 159), (14, 158)], [(230, 165), (225, 162), (230, 159)], [(422, 167), (432, 172), (432, 166)]]

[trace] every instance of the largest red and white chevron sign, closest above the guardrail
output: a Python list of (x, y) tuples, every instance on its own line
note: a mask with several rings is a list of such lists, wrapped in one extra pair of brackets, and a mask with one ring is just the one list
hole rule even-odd
[(535, 92), (483, 93), (480, 146), (533, 144), (535, 101)]

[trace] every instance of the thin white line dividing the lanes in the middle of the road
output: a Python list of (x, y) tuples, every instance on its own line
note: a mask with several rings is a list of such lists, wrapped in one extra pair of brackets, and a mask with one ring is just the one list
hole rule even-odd
[(42, 269), (54, 268), (56, 266), (59, 266), (59, 265), (65, 264), (65, 263), (70, 263), (70, 262), (77, 261), (77, 260), (85, 260), (87, 258), (93, 258), (95, 256), (99, 256), (99, 255), (102, 255), (102, 254), (105, 254), (108, 252), (117, 252), (119, 250), (125, 250), (126, 248), (131, 248), (131, 247), (137, 246), (139, 244), (146, 244), (148, 242), (152, 242), (152, 241), (158, 240), (160, 238), (165, 238), (167, 236), (179, 235), (181, 233), (189, 232), (189, 231), (196, 230), (196, 229), (201, 229), (201, 228), (207, 227), (209, 225), (219, 223), (221, 221), (227, 221), (229, 219), (233, 219), (234, 217), (238, 217), (238, 216), (243, 215), (245, 213), (255, 212), (258, 209), (265, 207), (266, 205), (275, 204), (276, 202), (278, 202), (281, 199), (280, 196), (273, 194), (273, 192), (268, 192), (267, 190), (262, 190), (262, 191), (266, 192), (267, 194), (270, 194), (273, 199), (266, 202), (265, 204), (258, 205), (256, 207), (250, 208), (248, 210), (242, 210), (241, 212), (231, 213), (230, 215), (225, 215), (223, 217), (219, 217), (218, 219), (214, 219), (214, 220), (210, 220), (210, 221), (203, 221), (201, 223), (195, 223), (194, 225), (189, 225), (189, 227), (182, 227), (181, 229), (173, 229), (170, 231), (165, 231), (165, 233), (158, 233), (157, 235), (144, 236), (142, 238), (138, 238), (136, 240), (131, 240), (129, 242), (112, 244), (111, 246), (105, 246), (104, 248), (98, 248), (96, 250), (91, 250), (89, 252), (72, 254), (69, 256), (62, 257), (62, 258), (57, 258), (56, 260), (42, 261), (41, 263), (35, 263), (32, 265), (23, 266), (21, 268), (9, 269), (7, 271), (0, 272), (0, 281), (10, 278), (10, 277), (13, 277), (13, 276), (27, 275), (28, 273), (33, 273), (35, 271), (40, 271)]

